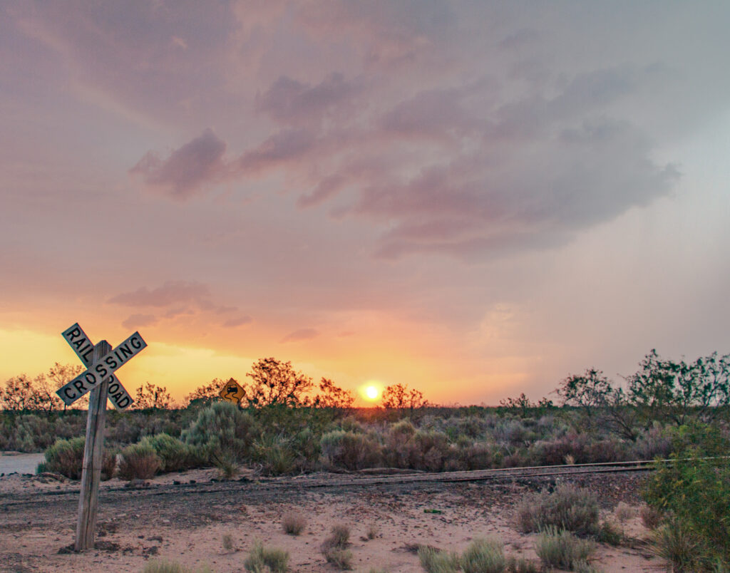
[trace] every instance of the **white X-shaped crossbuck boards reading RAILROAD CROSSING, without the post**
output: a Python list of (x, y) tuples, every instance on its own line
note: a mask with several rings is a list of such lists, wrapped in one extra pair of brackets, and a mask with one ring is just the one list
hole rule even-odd
[(79, 326), (79, 323), (67, 328), (61, 336), (71, 345), (84, 366), (88, 366), (85, 372), (82, 372), (70, 382), (66, 382), (64, 386), (56, 391), (56, 394), (64, 401), (66, 406), (70, 406), (85, 393), (101, 384), (102, 380), (107, 379), (110, 381), (109, 399), (117, 409), (124, 409), (133, 402), (114, 372), (147, 346), (147, 342), (142, 339), (139, 332), (132, 334), (118, 347), (101, 356), (99, 360), (92, 358), (94, 345)]

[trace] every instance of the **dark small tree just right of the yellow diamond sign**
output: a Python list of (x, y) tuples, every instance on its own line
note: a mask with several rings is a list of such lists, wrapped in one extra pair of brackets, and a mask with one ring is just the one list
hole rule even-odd
[(261, 358), (246, 374), (251, 383), (246, 388), (245, 399), (253, 407), (307, 406), (310, 400), (305, 394), (312, 389), (312, 379), (295, 372), (291, 362), (276, 358)]

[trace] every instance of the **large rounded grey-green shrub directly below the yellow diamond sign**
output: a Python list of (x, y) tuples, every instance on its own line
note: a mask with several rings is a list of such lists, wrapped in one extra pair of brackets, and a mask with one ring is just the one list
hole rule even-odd
[(242, 461), (252, 442), (253, 425), (253, 418), (247, 412), (229, 402), (216, 402), (198, 412), (182, 438), (196, 447), (208, 464), (223, 457)]

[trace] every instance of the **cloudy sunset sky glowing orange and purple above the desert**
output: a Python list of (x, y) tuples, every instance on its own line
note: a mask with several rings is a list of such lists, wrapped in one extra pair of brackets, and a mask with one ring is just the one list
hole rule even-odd
[(0, 3), (0, 381), (552, 396), (730, 352), (726, 1)]

